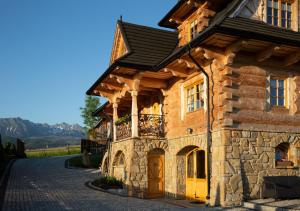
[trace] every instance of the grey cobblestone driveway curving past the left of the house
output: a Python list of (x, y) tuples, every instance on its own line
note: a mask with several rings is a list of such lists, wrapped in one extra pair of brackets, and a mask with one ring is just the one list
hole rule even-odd
[(152, 200), (120, 197), (84, 185), (99, 174), (66, 169), (68, 157), (17, 160), (10, 173), (3, 210), (181, 210)]

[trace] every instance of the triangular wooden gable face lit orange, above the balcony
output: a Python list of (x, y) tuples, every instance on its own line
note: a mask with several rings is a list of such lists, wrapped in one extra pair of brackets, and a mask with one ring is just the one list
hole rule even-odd
[(117, 29), (114, 37), (114, 44), (110, 57), (110, 64), (112, 64), (118, 58), (124, 56), (128, 52), (128, 47), (125, 44), (124, 37), (121, 33), (120, 25), (117, 25)]

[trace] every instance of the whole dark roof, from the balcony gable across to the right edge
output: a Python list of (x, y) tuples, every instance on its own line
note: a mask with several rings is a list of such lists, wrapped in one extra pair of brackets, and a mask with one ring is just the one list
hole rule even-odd
[[(193, 39), (190, 43), (187, 45), (176, 48), (174, 45), (171, 47), (171, 44), (174, 44), (176, 41), (177, 45), (177, 33), (175, 32), (168, 32), (164, 30), (149, 28), (145, 26), (138, 26), (134, 24), (129, 23), (123, 23), (123, 33), (126, 35), (124, 39), (128, 39), (128, 44), (130, 47), (133, 47), (132, 52), (129, 52), (124, 57), (118, 59), (98, 80), (97, 82), (90, 88), (90, 90), (87, 92), (89, 94), (93, 87), (95, 87), (99, 81), (103, 80), (111, 70), (113, 70), (116, 66), (131, 66), (132, 65), (142, 65), (140, 68), (136, 66), (139, 69), (143, 69), (142, 67), (148, 66), (148, 70), (154, 70), (158, 71), (161, 68), (168, 65), (170, 62), (172, 62), (174, 59), (179, 58), (183, 54), (187, 53), (190, 49), (197, 47), (201, 42), (203, 42), (205, 39), (207, 39), (209, 36), (213, 35), (214, 33), (225, 33), (230, 34), (234, 36), (243, 36), (245, 38), (256, 38), (266, 41), (272, 41), (274, 43), (278, 44), (290, 44), (294, 46), (300, 46), (300, 33), (294, 32), (291, 30), (281, 29), (277, 28), (271, 25), (268, 25), (265, 22), (262, 21), (256, 21), (252, 19), (246, 19), (246, 18), (240, 18), (236, 17), (237, 11), (239, 10), (240, 6), (245, 3), (246, 0), (233, 0), (231, 1), (226, 8), (224, 8), (222, 11), (217, 13), (210, 21), (209, 26), (203, 30), (201, 33), (198, 34), (198, 36)], [(176, 5), (180, 5), (184, 0), (181, 0)], [(176, 7), (175, 5), (175, 7)], [(140, 31), (139, 31), (140, 30)], [(146, 31), (143, 33), (142, 31)], [(139, 31), (139, 32), (138, 32)], [(155, 31), (155, 32), (154, 32)], [(135, 41), (135, 33), (138, 32), (137, 38), (139, 38), (137, 41)], [(167, 37), (170, 36), (173, 41), (168, 42), (168, 49), (164, 50), (166, 46), (160, 46), (161, 39), (159, 39), (157, 42), (155, 41), (156, 38), (151, 37), (151, 32), (157, 33), (156, 38), (158, 38), (158, 34), (164, 34), (164, 40), (168, 40)], [(127, 34), (126, 34), (127, 33)], [(169, 34), (170, 33), (170, 34)], [(154, 43), (154, 46), (156, 46), (154, 49), (152, 49), (152, 45), (150, 42), (148, 42), (148, 39), (146, 37), (142, 37), (143, 35), (146, 35), (149, 40), (151, 40), (151, 43)], [(176, 36), (175, 36), (176, 35)], [(152, 39), (150, 39), (150, 38)], [(144, 39), (145, 38), (145, 39)], [(174, 42), (174, 43), (172, 43)], [(140, 45), (142, 43), (142, 45)], [(145, 46), (143, 46), (145, 45)], [(162, 48), (161, 48), (162, 47)], [(135, 50), (136, 49), (136, 52)], [(143, 51), (143, 49), (146, 49)], [(155, 56), (155, 52), (162, 51), (162, 54), (159, 54), (160, 56)], [(134, 52), (136, 53), (135, 55)], [(146, 52), (146, 54), (144, 54)], [(167, 53), (169, 52), (169, 53)], [(133, 55), (130, 57), (130, 55)], [(148, 57), (149, 55), (149, 57)], [(153, 55), (154, 57), (151, 57)], [(160, 57), (160, 59), (159, 59)], [(164, 57), (164, 58), (163, 58)], [(148, 61), (148, 58), (149, 61)], [(140, 59), (140, 60), (139, 60)], [(147, 60), (147, 61), (146, 61)], [(140, 64), (137, 64), (139, 61)], [(156, 63), (158, 62), (158, 63)], [(155, 64), (156, 63), (156, 64)], [(152, 66), (151, 66), (151, 65)]]

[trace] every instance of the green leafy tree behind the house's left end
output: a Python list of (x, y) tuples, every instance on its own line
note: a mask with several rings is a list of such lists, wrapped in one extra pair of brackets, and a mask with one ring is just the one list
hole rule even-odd
[(80, 108), (81, 117), (83, 118), (83, 123), (87, 132), (90, 132), (96, 124), (99, 122), (100, 118), (93, 116), (93, 112), (100, 106), (99, 98), (86, 96), (85, 97), (85, 107)]

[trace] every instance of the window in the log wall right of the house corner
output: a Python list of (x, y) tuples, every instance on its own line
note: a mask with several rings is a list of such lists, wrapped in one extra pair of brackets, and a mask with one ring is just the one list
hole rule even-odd
[(270, 86), (271, 106), (285, 106), (284, 80), (271, 78)]

